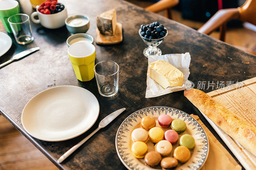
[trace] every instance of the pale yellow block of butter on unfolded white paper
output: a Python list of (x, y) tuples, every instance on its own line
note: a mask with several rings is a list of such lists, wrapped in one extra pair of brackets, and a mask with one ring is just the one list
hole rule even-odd
[(163, 60), (150, 63), (149, 76), (164, 89), (182, 86), (184, 77), (178, 68)]

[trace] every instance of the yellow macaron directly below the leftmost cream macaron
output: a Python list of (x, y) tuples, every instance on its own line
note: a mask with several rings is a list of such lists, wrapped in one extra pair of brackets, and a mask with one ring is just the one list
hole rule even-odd
[(144, 158), (147, 152), (148, 146), (145, 142), (138, 141), (132, 144), (132, 154), (136, 158)]

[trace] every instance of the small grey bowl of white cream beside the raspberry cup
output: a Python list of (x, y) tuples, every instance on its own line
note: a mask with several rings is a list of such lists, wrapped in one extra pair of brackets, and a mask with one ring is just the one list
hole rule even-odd
[(65, 20), (68, 32), (72, 34), (85, 33), (89, 29), (90, 19), (85, 15), (73, 15)]

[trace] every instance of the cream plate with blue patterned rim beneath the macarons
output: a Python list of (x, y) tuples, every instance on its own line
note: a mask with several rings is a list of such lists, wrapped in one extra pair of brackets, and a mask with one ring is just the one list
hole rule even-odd
[[(126, 166), (130, 170), (152, 170), (152, 169), (162, 169), (161, 166), (157, 166), (155, 168), (148, 167), (144, 164), (144, 159), (137, 159), (132, 155), (131, 147), (132, 147), (132, 139), (131, 134), (134, 129), (140, 128), (140, 120), (145, 116), (151, 116), (156, 119), (156, 126), (160, 127), (157, 123), (157, 118), (160, 115), (169, 115), (174, 119), (181, 119), (187, 125), (187, 130), (183, 132), (183, 134), (190, 134), (194, 137), (196, 141), (195, 148), (191, 151), (190, 159), (184, 163), (179, 163), (176, 169), (179, 170), (197, 170), (200, 169), (204, 162), (208, 157), (209, 152), (209, 141), (206, 136), (206, 133), (202, 126), (190, 115), (187, 113), (170, 108), (170, 107), (148, 107), (145, 109), (138, 110), (128, 116), (124, 122), (120, 125), (117, 133), (116, 133), (116, 152), (118, 154), (119, 159), (122, 161), (124, 166)], [(164, 131), (171, 128), (162, 128)], [(179, 135), (179, 139), (180, 136)], [(147, 142), (148, 152), (154, 151), (154, 144), (150, 141)], [(169, 155), (171, 157), (173, 154), (173, 150), (179, 146), (179, 141), (172, 145), (172, 153)]]

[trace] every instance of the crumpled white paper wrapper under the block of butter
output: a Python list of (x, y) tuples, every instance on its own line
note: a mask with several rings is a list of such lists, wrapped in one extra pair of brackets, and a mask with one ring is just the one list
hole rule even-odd
[[(178, 68), (183, 74), (183, 85), (177, 87), (168, 87), (164, 89), (160, 86), (156, 81), (149, 77), (149, 65), (150, 63), (157, 61), (157, 60), (164, 60), (174, 67)], [(190, 54), (165, 54), (165, 55), (155, 55), (148, 57), (148, 72), (147, 72), (147, 89), (146, 89), (146, 98), (149, 97), (157, 97), (162, 96), (168, 93), (172, 93), (175, 91), (180, 91), (186, 89), (185, 83), (188, 81), (189, 72), (189, 64), (190, 64)]]

